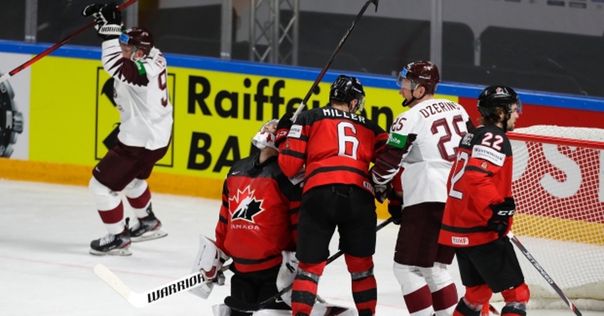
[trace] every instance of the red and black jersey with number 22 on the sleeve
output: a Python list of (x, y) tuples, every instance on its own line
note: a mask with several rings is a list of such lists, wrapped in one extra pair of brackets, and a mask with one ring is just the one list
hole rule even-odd
[(480, 126), (461, 139), (447, 187), (439, 243), (471, 247), (498, 239), (487, 228), (489, 205), (512, 196), (512, 145), (503, 129)]

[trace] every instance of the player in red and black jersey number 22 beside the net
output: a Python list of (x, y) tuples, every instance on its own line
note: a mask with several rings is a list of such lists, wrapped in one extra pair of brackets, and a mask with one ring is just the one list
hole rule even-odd
[(439, 242), (455, 247), (466, 293), (454, 316), (480, 316), (493, 292), (506, 305), (502, 316), (525, 316), (530, 292), (506, 234), (516, 205), (512, 197), (513, 131), (522, 110), (507, 86), (489, 86), (478, 96), (481, 126), (464, 136), (449, 175), (449, 196)]

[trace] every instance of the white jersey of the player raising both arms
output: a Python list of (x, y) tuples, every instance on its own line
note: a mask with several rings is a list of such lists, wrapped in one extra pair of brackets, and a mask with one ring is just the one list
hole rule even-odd
[(145, 59), (123, 58), (118, 39), (103, 42), (103, 67), (114, 78), (114, 101), (120, 111), (121, 143), (155, 150), (172, 136), (173, 107), (164, 56), (155, 47)]

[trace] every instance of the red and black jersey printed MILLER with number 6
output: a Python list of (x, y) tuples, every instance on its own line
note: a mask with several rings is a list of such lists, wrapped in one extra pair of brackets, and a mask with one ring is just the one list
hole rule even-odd
[(362, 115), (326, 106), (298, 116), (279, 146), (279, 166), (293, 176), (306, 164), (304, 192), (319, 185), (355, 184), (373, 193), (369, 164), (388, 134)]

